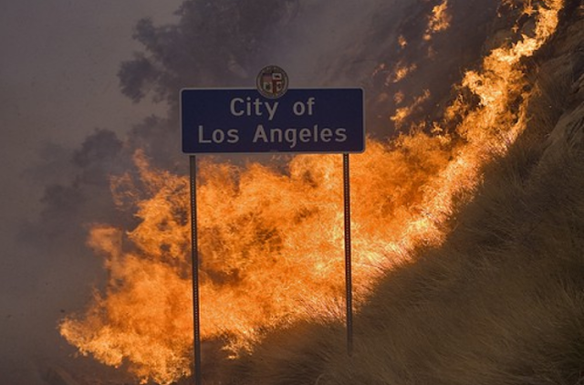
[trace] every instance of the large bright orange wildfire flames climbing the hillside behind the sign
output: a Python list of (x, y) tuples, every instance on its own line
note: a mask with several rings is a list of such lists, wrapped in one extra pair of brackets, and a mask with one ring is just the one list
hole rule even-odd
[[(434, 8), (429, 33), (447, 27), (439, 22), (450, 20), (446, 5)], [(543, 1), (535, 11), (528, 6), (532, 36), (494, 49), (480, 70), (468, 71), (432, 134), (412, 130), (388, 143), (369, 140), (364, 154), (352, 156), (358, 298), (416, 247), (443, 242), (447, 220), (472, 195), (482, 166), (525, 129), (529, 94), (520, 60), (555, 31), (563, 2)], [(456, 128), (449, 134), (446, 127)], [(125, 363), (143, 382), (169, 384), (191, 374), (189, 183), (153, 170), (141, 152), (135, 161), (141, 174), (134, 182), (148, 194), (135, 203), (140, 223), (127, 233), (93, 226), (89, 245), (105, 256), (109, 286), (60, 331), (82, 354), (112, 366)], [(128, 175), (112, 179), (120, 204), (143, 194), (134, 182)], [(297, 156), (285, 172), (203, 162), (203, 338), (225, 338), (236, 354), (282, 324), (342, 317), (341, 183), (340, 155)]]

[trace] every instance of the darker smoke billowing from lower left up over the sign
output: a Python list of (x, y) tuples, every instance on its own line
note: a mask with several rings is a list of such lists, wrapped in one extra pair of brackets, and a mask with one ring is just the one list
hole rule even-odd
[[(75, 371), (79, 361), (68, 360), (74, 349), (57, 336), (57, 323), (64, 313), (82, 310), (91, 287), (101, 284), (99, 260), (85, 245), (87, 225), (131, 228), (135, 219), (117, 209), (110, 176), (136, 173), (132, 156), (137, 149), (155, 167), (186, 172), (177, 120), (181, 88), (253, 87), (259, 68), (273, 63), (287, 69), (292, 87), (365, 88), (371, 136), (392, 137), (412, 123), (429, 130), (424, 123), (435, 117), (428, 111), (437, 115), (457, 80), (455, 74), (474, 66), (497, 11), (495, 0), (448, 1), (449, 28), (425, 38), (428, 17), (441, 3), (187, 0), (177, 11), (175, 25), (141, 20), (134, 37), (142, 50), (129, 53), (130, 59), (121, 63), (120, 90), (137, 103), (151, 98), (167, 104), (168, 115), (144, 119), (125, 138), (103, 129), (78, 150), (47, 148), (47, 162), (31, 171), (32, 176), (49, 179), (39, 222), (20, 231), (22, 257), (37, 265), (15, 272), (15, 266), (3, 264), (2, 271), (18, 279), (6, 277), (2, 284), (3, 302), (10, 306), (1, 325), (13, 337), (3, 344), (0, 361), (7, 365), (0, 367), (1, 377), (15, 385), (46, 383), (42, 377), (47, 378), (47, 360)], [(396, 71), (402, 67), (410, 73), (398, 78)], [(391, 120), (397, 109), (424, 92), (428, 97), (406, 122)], [(436, 105), (438, 109), (428, 108)], [(30, 287), (23, 287), (23, 276)], [(7, 298), (4, 293), (16, 294)], [(35, 301), (42, 306), (13, 305), (30, 300), (32, 293), (41, 293)], [(11, 309), (22, 314), (14, 315)], [(26, 322), (16, 322), (16, 316)], [(28, 363), (15, 369), (15, 360)]]

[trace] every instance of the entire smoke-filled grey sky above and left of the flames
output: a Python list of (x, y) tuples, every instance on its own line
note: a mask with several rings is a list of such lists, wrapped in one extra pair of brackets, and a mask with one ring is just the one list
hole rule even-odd
[[(292, 87), (365, 88), (368, 130), (380, 135), (397, 103), (391, 72), (411, 64), (400, 60), (417, 62), (417, 76), (400, 84), (405, 102), (428, 88), (425, 102), (438, 103), (456, 81), (449, 77), (480, 50), (497, 2), (452, 0), (464, 16), (454, 17), (452, 35), (461, 37), (450, 40), (421, 38), (440, 1), (282, 0), (270, 11), (274, 20), (253, 1), (214, 6), (227, 3), (186, 0), (180, 19), (174, 12), (183, 0), (0, 0), (0, 379), (44, 384), (43, 362), (74, 352), (57, 322), (82, 310), (99, 285), (100, 262), (84, 243), (88, 224), (116, 219), (107, 173), (130, 166), (137, 147), (157, 165), (181, 159), (178, 127), (168, 127), (166, 103), (152, 96), (172, 104), (181, 87), (250, 87), (259, 68), (278, 64)], [(201, 27), (197, 13), (210, 23)], [(144, 17), (152, 24), (138, 28), (139, 43), (132, 34)], [(157, 29), (164, 25), (177, 29)], [(400, 47), (400, 35), (418, 42)], [(153, 84), (153, 67), (133, 56), (149, 45), (164, 53), (162, 62), (151, 60), (164, 70)], [(120, 64), (132, 59), (122, 95)], [(145, 120), (152, 112), (161, 120)], [(120, 214), (118, 222), (126, 220)]]

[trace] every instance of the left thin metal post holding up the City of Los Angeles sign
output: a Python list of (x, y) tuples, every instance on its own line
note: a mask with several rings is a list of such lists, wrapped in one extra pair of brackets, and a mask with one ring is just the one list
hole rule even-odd
[(191, 163), (191, 255), (193, 259), (193, 340), (194, 340), (194, 385), (203, 385), (201, 380), (201, 321), (199, 312), (199, 250), (197, 240), (197, 160)]

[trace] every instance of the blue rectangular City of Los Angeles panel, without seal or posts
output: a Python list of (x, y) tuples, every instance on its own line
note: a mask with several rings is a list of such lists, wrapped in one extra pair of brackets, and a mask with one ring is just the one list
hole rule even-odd
[(288, 89), (267, 99), (257, 89), (181, 91), (185, 153), (362, 152), (361, 88)]

